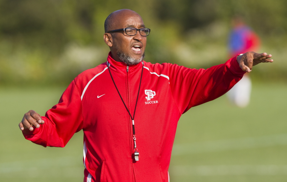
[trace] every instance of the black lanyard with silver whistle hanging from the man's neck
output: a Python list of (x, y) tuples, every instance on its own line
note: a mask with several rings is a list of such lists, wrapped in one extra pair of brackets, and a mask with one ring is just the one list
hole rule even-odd
[[(141, 78), (143, 77), (143, 71), (144, 71), (144, 62), (143, 61), (141, 61), (142, 62), (142, 64), (143, 64), (143, 67), (142, 67), (142, 69), (141, 69)], [(110, 66), (108, 65), (108, 71), (110, 72)], [(119, 93), (119, 96), (121, 97), (121, 99), (122, 99), (122, 101), (123, 101), (123, 104), (125, 105), (125, 102), (124, 102), (124, 100), (123, 100), (123, 97), (121, 96), (121, 94), (120, 94), (120, 92), (119, 92), (119, 89), (117, 88), (117, 85), (116, 85), (116, 83), (115, 83), (115, 81), (114, 81), (114, 79), (113, 79), (113, 76), (112, 76), (112, 74), (110, 73), (110, 77), (112, 78), (112, 80), (113, 80), (113, 82), (114, 82), (114, 85), (115, 85), (115, 87), (116, 87), (116, 89), (117, 89), (117, 91), (118, 91), (118, 93)], [(139, 90), (140, 90), (140, 88), (141, 88), (141, 79), (140, 79), (140, 81), (139, 81)], [(137, 100), (139, 99), (139, 91), (137, 92)], [(128, 113), (129, 113), (129, 116), (131, 116), (131, 112), (129, 111), (129, 109), (127, 108), (127, 105), (125, 105), (125, 108), (127, 109), (127, 111), (128, 111)], [(137, 108), (137, 101), (135, 102), (135, 109)], [(135, 161), (138, 161), (139, 160), (139, 152), (137, 152), (137, 145), (135, 144), (135, 140), (136, 140), (136, 138), (135, 138), (135, 122), (134, 122), (134, 119), (135, 119), (135, 111), (133, 112), (133, 117), (131, 116), (131, 120), (132, 120), (132, 122), (133, 122), (133, 141), (134, 141), (134, 151), (135, 151), (135, 153), (134, 153), (134, 155), (135, 155)]]

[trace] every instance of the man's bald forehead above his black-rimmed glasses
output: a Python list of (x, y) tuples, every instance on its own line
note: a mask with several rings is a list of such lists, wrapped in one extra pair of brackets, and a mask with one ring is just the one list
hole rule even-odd
[(144, 28), (144, 21), (135, 12), (121, 12), (113, 17), (113, 29), (135, 27)]

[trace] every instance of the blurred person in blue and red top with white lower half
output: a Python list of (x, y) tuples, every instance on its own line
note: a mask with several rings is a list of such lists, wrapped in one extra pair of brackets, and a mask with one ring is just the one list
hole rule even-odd
[[(228, 38), (229, 57), (259, 50), (259, 37), (244, 23), (240, 16), (232, 19), (232, 27)], [(251, 87), (249, 74), (244, 74), (243, 78), (228, 91), (228, 99), (238, 107), (246, 107), (250, 101)]]

